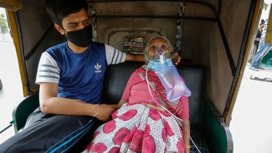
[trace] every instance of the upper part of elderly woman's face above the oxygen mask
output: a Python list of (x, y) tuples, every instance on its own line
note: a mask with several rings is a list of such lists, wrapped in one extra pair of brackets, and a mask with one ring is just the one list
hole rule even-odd
[(156, 47), (161, 46), (165, 53), (169, 53), (167, 42), (163, 38), (155, 38), (150, 41), (148, 46), (148, 56), (152, 56), (156, 51)]

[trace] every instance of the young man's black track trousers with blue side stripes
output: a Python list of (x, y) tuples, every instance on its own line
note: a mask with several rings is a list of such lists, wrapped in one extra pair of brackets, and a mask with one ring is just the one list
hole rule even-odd
[(101, 124), (91, 116), (47, 114), (38, 107), (22, 131), (0, 144), (0, 153), (80, 153)]

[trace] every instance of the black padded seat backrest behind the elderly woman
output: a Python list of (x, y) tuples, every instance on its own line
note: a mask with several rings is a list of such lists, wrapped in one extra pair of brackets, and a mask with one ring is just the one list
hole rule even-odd
[[(133, 61), (109, 65), (104, 78), (103, 93), (101, 96), (102, 103), (118, 103), (130, 75), (142, 64), (144, 63)], [(204, 85), (204, 67), (180, 64), (177, 66), (177, 70), (192, 92), (192, 95), (189, 97), (190, 124), (199, 125)]]

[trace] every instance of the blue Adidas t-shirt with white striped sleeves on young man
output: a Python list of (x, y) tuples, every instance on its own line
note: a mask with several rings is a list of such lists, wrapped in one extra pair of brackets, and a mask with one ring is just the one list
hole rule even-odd
[(57, 83), (57, 97), (100, 103), (107, 66), (124, 62), (125, 57), (124, 52), (97, 42), (75, 53), (65, 42), (42, 53), (36, 83)]

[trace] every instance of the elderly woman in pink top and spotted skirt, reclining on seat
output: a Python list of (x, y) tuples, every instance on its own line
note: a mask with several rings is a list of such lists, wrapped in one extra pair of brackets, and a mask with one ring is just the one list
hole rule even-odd
[(119, 109), (112, 113), (111, 121), (95, 131), (93, 141), (84, 153), (190, 152), (188, 97), (169, 102), (159, 77), (147, 68), (158, 47), (166, 54), (173, 51), (164, 37), (156, 37), (147, 44), (146, 64), (132, 73), (117, 104)]

